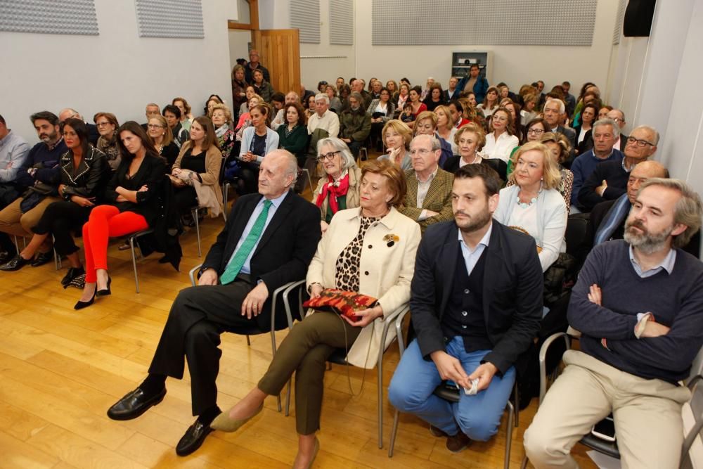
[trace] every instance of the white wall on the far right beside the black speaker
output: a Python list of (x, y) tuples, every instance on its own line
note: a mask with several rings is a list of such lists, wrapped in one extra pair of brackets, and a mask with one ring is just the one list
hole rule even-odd
[(649, 37), (624, 37), (612, 74), (611, 102), (628, 128), (647, 124), (659, 131), (655, 158), (671, 176), (703, 192), (703, 0), (659, 0)]

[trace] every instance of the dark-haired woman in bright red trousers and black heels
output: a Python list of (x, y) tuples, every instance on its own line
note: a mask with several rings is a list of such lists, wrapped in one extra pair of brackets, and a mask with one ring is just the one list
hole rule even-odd
[(94, 207), (83, 226), (86, 284), (75, 309), (90, 306), (96, 296), (110, 295), (108, 239), (148, 229), (159, 215), (166, 160), (136, 122), (125, 122), (117, 134), (122, 161), (105, 189), (110, 205)]

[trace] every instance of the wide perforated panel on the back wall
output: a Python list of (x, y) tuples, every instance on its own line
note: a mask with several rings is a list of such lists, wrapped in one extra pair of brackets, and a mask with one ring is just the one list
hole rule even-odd
[(375, 46), (590, 46), (597, 0), (373, 0)]

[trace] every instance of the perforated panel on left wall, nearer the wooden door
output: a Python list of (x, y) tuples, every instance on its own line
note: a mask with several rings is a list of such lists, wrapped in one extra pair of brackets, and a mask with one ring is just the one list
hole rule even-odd
[(134, 0), (140, 37), (202, 39), (200, 0)]

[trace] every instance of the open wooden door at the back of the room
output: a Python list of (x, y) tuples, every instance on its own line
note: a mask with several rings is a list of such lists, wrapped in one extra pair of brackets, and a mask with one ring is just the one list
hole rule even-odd
[(300, 91), (298, 30), (252, 30), (252, 46), (269, 69), (273, 89), (283, 94)]

